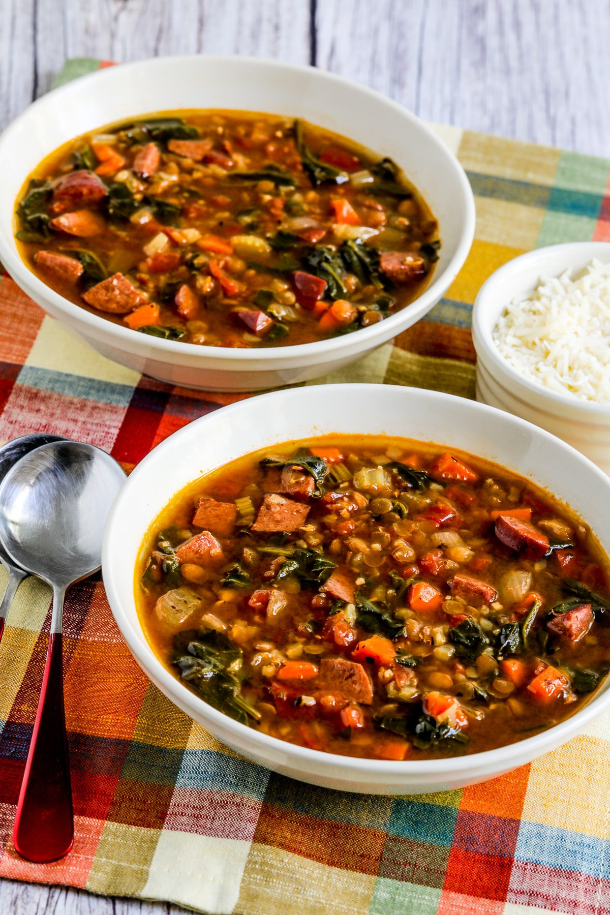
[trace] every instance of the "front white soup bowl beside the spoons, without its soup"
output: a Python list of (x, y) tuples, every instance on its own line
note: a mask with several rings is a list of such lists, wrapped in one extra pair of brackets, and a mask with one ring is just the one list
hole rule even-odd
[(326, 788), (374, 794), (444, 791), (494, 778), (530, 762), (585, 727), (610, 705), (607, 681), (556, 727), (507, 747), (424, 762), (334, 756), (259, 734), (179, 683), (156, 658), (135, 611), (134, 567), (144, 534), (177, 490), (262, 447), (349, 433), (392, 435), (461, 448), (546, 487), (591, 525), (610, 552), (610, 479), (572, 447), (508, 413), (450, 394), (379, 384), (336, 384), (263, 394), (185, 426), (134, 469), (115, 501), (102, 550), (114, 619), (135, 660), (166, 696), (248, 759)]

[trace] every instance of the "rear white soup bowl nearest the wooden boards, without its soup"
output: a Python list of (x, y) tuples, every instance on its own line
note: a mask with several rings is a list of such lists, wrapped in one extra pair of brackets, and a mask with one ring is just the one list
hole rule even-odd
[[(16, 196), (31, 172), (74, 136), (153, 111), (224, 108), (304, 118), (392, 156), (439, 221), (443, 246), (422, 295), (387, 320), (299, 346), (230, 350), (156, 339), (91, 314), (45, 285), (13, 237)], [(395, 337), (444, 296), (464, 264), (475, 204), (455, 156), (419, 118), (364, 86), (313, 67), (237, 57), (175, 57), (110, 67), (49, 92), (0, 137), (0, 261), (16, 283), (109, 359), (172, 384), (252, 391), (335, 371)]]

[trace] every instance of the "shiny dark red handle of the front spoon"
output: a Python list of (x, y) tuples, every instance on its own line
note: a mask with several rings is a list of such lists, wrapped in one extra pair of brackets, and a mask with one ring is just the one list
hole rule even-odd
[(36, 721), (17, 802), (13, 844), (19, 855), (28, 861), (46, 863), (67, 855), (73, 842), (61, 633), (51, 632)]

